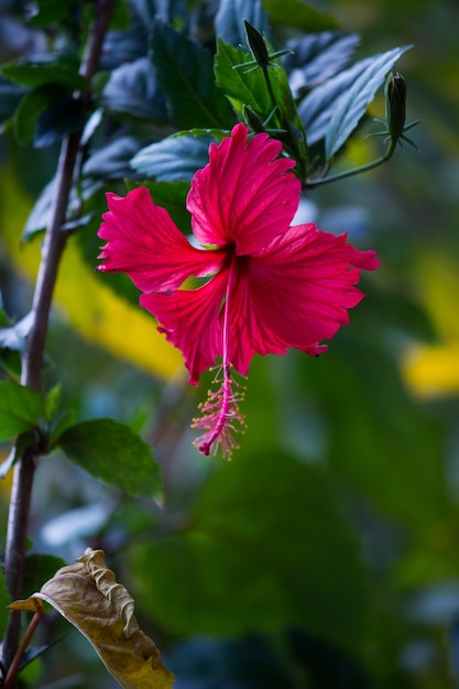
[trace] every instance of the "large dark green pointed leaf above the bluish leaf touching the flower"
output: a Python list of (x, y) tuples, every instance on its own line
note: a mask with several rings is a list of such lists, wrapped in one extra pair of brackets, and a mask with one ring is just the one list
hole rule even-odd
[(160, 21), (152, 35), (153, 64), (178, 127), (230, 129), (233, 113), (216, 87), (209, 51)]

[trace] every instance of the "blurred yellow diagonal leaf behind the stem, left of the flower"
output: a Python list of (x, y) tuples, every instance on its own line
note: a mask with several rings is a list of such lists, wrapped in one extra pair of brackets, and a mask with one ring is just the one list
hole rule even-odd
[[(0, 169), (1, 239), (18, 271), (34, 281), (40, 242), (21, 244), (22, 228), (31, 206), (31, 199), (14, 176), (6, 168)], [(181, 372), (185, 375), (181, 353), (157, 332), (154, 318), (106, 287), (86, 265), (72, 238), (59, 267), (55, 300), (75, 329), (89, 341), (163, 379)]]

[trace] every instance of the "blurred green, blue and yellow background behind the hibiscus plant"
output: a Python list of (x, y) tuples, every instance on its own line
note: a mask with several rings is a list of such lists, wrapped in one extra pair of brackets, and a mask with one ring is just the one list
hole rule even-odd
[[(407, 119), (423, 119), (412, 131), (420, 153), (398, 149), (378, 171), (309, 196), (321, 229), (348, 229), (382, 265), (363, 276), (368, 297), (326, 354), (255, 358), (249, 427), (232, 462), (190, 445), (208, 381), (188, 389), (179, 354), (91, 273), (77, 240), (56, 292), (47, 380), (63, 380), (80, 418), (112, 416), (142, 430), (164, 497), (161, 506), (129, 499), (59, 456), (44, 459), (29, 586), (53, 573), (37, 554), (73, 561), (88, 545), (102, 547), (178, 689), (457, 682), (459, 4), (315, 7), (361, 34), (358, 57), (414, 44), (397, 68)], [(2, 59), (23, 50), (20, 33), (17, 45), (13, 33), (7, 42), (12, 9), (3, 1)], [(371, 114), (383, 109), (380, 92)], [(369, 120), (343, 168), (381, 153), (380, 140), (364, 138), (371, 131)], [(0, 280), (14, 318), (29, 309), (40, 250), (40, 240), (19, 240), (55, 153), (18, 147), (8, 132), (0, 142)], [(0, 489), (4, 533), (8, 478)], [(116, 686), (87, 643), (50, 615), (41, 643), (63, 635), (24, 682)]]

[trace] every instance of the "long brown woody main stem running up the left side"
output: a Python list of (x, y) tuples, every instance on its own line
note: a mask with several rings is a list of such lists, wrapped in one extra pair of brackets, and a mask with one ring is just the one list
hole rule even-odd
[[(113, 4), (114, 0), (98, 0), (95, 8), (95, 23), (80, 67), (80, 74), (87, 79), (94, 76), (99, 64)], [(79, 94), (76, 98), (86, 99), (88, 95)], [(42, 367), (54, 285), (67, 239), (62, 226), (74, 183), (80, 139), (81, 131), (74, 132), (64, 140), (61, 149), (54, 199), (33, 296), (32, 328), (23, 356), (21, 383), (37, 392), (42, 386)], [(33, 477), (39, 458), (40, 449), (29, 448), (14, 467), (4, 556), (7, 586), (12, 600), (22, 595)], [(2, 663), (6, 672), (17, 654), (20, 624), (20, 613), (12, 612), (2, 646)]]

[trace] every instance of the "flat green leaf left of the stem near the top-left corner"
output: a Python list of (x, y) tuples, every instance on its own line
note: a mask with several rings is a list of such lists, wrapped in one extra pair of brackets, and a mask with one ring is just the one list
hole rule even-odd
[(11, 62), (1, 67), (11, 81), (35, 88), (48, 84), (67, 89), (87, 90), (88, 81), (78, 73), (78, 65), (69, 62)]

